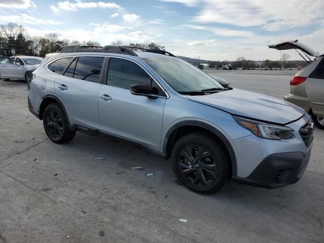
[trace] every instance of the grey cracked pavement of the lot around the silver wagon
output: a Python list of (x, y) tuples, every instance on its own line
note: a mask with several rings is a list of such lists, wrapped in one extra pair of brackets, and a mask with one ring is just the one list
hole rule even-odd
[[(290, 73), (243, 71), (211, 74), (278, 98), (289, 92)], [(324, 242), (324, 131), (315, 129), (309, 166), (296, 184), (229, 182), (199, 195), (175, 183), (169, 160), (133, 144), (80, 133), (54, 144), (26, 97), (26, 83), (0, 80), (1, 243)]]

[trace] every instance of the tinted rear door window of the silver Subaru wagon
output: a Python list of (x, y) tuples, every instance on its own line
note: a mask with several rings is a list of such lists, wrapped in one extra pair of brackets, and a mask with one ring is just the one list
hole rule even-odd
[(74, 78), (99, 83), (99, 76), (104, 57), (79, 57)]

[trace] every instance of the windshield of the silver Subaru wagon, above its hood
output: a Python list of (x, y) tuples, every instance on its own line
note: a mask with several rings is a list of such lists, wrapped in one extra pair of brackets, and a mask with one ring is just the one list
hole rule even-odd
[(224, 88), (213, 77), (181, 59), (143, 58), (143, 60), (177, 92)]

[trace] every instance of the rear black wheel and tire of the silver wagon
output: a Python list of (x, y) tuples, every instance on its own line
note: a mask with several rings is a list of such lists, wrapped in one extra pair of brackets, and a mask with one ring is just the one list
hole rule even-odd
[(46, 106), (43, 115), (43, 125), (47, 136), (55, 143), (68, 143), (75, 136), (76, 131), (68, 129), (65, 114), (57, 103), (51, 103)]

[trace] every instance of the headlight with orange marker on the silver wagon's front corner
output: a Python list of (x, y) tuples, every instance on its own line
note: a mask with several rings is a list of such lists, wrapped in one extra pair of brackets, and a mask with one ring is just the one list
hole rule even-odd
[(260, 121), (242, 118), (239, 116), (233, 117), (238, 125), (248, 129), (259, 138), (281, 140), (294, 137), (292, 133), (294, 129), (289, 127), (262, 123)]

